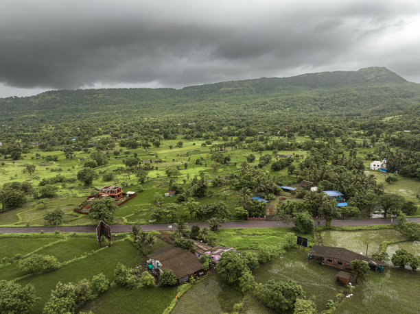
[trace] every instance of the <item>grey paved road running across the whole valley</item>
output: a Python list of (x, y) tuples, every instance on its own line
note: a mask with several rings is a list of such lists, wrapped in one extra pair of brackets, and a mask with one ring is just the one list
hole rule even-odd
[[(420, 217), (408, 218), (408, 221), (416, 221), (420, 223)], [(393, 219), (393, 224), (396, 221)], [(205, 222), (196, 223), (200, 228), (209, 227), (209, 224)], [(320, 226), (323, 226), (325, 221), (320, 220)], [(332, 226), (373, 226), (373, 225), (389, 225), (391, 224), (391, 219), (350, 219), (350, 220), (333, 220)], [(188, 224), (189, 228), (193, 224)], [(317, 226), (318, 223), (315, 223)], [(293, 224), (283, 224), (280, 221), (264, 221), (264, 220), (254, 220), (254, 221), (242, 221), (242, 222), (226, 222), (223, 224), (222, 228), (275, 228), (275, 227), (292, 227)], [(71, 226), (71, 227), (58, 227), (57, 230), (61, 232), (95, 232), (96, 226)], [(162, 231), (162, 230), (173, 230), (176, 226), (170, 224), (150, 224), (150, 225), (141, 225), (141, 230), (143, 231)], [(54, 232), (56, 228), (54, 227), (14, 227), (14, 228), (0, 228), (1, 233), (27, 233), (27, 232)], [(112, 225), (112, 232), (129, 232), (131, 231), (131, 225)]]

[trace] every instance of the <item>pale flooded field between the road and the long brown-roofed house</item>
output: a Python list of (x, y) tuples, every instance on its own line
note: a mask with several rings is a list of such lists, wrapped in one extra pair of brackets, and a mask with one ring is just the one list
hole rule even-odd
[(334, 231), (327, 230), (321, 232), (323, 245), (345, 247), (356, 253), (366, 254), (368, 245), (368, 255), (380, 252), (380, 245), (383, 241), (404, 239), (397, 230), (360, 230), (360, 231)]

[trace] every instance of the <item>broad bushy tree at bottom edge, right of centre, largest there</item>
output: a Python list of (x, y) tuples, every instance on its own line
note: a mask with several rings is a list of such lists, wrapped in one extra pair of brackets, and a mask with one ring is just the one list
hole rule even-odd
[(296, 300), (305, 298), (302, 287), (292, 280), (285, 282), (270, 279), (265, 285), (257, 285), (254, 294), (266, 306), (279, 313), (292, 312)]

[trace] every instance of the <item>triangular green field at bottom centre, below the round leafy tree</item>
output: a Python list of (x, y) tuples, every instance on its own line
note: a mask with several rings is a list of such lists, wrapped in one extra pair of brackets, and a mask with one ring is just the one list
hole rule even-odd
[(180, 298), (172, 313), (231, 313), (233, 305), (241, 300), (240, 291), (228, 285), (217, 274), (210, 274)]

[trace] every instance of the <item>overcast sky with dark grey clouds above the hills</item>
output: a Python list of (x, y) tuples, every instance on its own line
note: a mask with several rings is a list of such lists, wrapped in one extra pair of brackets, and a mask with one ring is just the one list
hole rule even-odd
[(420, 83), (419, 0), (0, 0), (0, 97), (363, 67)]

